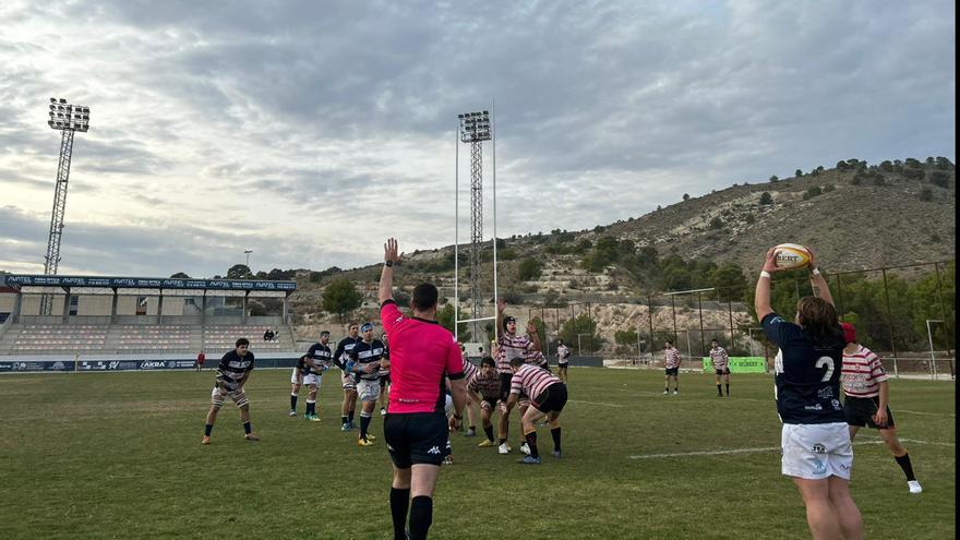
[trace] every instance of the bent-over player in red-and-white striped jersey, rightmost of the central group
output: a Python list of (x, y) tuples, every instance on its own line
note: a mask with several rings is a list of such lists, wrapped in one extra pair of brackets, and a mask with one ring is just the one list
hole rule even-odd
[(537, 422), (547, 417), (550, 423), (550, 434), (553, 436), (553, 457), (562, 457), (560, 448), (560, 413), (566, 405), (566, 385), (549, 371), (536, 365), (524, 363), (523, 358), (511, 360), (511, 394), (506, 408), (512, 409), (517, 404), (520, 393), (529, 396), (530, 407), (523, 416), (524, 439), (530, 449), (530, 454), (520, 460), (524, 465), (539, 465), (540, 454), (537, 451)]

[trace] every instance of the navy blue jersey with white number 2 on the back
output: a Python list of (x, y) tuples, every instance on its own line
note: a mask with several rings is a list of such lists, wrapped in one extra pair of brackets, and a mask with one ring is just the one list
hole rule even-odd
[[(764, 334), (780, 347), (775, 360), (777, 412), (783, 423), (845, 421), (840, 404), (843, 338), (817, 344), (799, 325), (769, 313), (760, 321)], [(838, 323), (839, 328), (839, 323)]]

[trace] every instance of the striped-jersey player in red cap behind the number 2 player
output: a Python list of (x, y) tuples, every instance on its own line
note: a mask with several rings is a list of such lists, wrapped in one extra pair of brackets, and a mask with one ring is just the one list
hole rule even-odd
[(921, 493), (923, 488), (913, 476), (910, 454), (897, 437), (897, 427), (893, 424), (893, 413), (889, 407), (890, 384), (887, 382), (889, 376), (884, 371), (884, 364), (874, 351), (856, 341), (856, 328), (852, 324), (842, 323), (840, 326), (843, 327), (843, 337), (847, 341), (843, 348), (840, 382), (843, 384), (843, 408), (850, 440), (853, 441), (856, 432), (864, 425), (877, 430), (880, 439), (893, 454), (897, 465), (903, 469), (910, 493)]

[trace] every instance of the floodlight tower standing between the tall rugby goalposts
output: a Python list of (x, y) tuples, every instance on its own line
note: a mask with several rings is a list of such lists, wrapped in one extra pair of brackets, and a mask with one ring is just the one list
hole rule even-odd
[[(483, 244), (483, 141), (490, 141), (490, 113), (465, 112), (460, 119), (460, 142), (470, 143), (470, 308), (472, 319), (483, 309), (480, 295), (480, 252)], [(475, 339), (480, 335), (473, 323)]]

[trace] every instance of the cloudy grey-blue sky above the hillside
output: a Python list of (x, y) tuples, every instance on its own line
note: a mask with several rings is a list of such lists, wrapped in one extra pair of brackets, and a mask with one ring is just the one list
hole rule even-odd
[(580, 230), (855, 157), (956, 160), (952, 0), (0, 3), (0, 269), (44, 271), (60, 133), (77, 133), (60, 274), (349, 268)]

